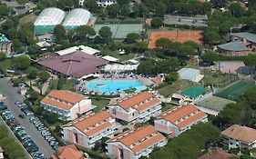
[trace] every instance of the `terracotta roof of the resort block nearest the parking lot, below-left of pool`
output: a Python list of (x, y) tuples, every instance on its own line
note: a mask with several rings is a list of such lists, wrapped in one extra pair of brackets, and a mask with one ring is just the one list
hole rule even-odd
[[(81, 101), (84, 98), (84, 95), (77, 94), (67, 90), (53, 90), (42, 99), (42, 103), (52, 104), (59, 108), (69, 110), (74, 104)], [(58, 102), (56, 99), (61, 100)]]

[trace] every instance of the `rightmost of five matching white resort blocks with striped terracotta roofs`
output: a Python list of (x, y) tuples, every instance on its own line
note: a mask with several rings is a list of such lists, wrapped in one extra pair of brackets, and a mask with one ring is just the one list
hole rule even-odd
[(207, 122), (207, 114), (195, 105), (177, 106), (159, 115), (155, 120), (155, 128), (170, 137), (176, 137), (187, 131), (194, 124)]

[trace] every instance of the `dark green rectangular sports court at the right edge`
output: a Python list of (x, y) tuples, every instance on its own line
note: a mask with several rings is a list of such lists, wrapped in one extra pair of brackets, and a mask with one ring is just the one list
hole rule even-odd
[(246, 93), (253, 87), (256, 87), (256, 84), (251, 84), (246, 81), (239, 81), (220, 90), (220, 92), (215, 95), (236, 101), (242, 94)]

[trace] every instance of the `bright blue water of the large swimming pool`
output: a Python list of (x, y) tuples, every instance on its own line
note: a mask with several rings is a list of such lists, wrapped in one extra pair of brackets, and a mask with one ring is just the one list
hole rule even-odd
[(137, 80), (98, 80), (87, 84), (87, 88), (89, 90), (100, 90), (102, 93), (117, 92), (118, 90), (126, 90), (128, 88), (137, 87), (139, 88), (139, 91), (142, 87), (144, 89), (147, 88)]

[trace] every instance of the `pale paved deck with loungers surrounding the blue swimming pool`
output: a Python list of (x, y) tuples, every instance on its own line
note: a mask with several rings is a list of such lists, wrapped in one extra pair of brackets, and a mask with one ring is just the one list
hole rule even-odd
[[(145, 77), (141, 77), (139, 75), (131, 75), (132, 77), (130, 77), (128, 75), (128, 77), (126, 78), (120, 78), (119, 75), (111, 75), (111, 77), (104, 77), (104, 75), (100, 75), (98, 78), (87, 81), (81, 81), (79, 84), (77, 84), (77, 91), (84, 93), (84, 94), (103, 94), (100, 90), (89, 90), (87, 88), (87, 84), (93, 81), (99, 81), (99, 80), (138, 80), (139, 82), (141, 82), (143, 85), (150, 85), (150, 84), (154, 84), (151, 79), (149, 78), (145, 78)], [(111, 94), (111, 93), (105, 93), (105, 94)], [(123, 90), (119, 90), (117, 93), (112, 93), (112, 94), (120, 94), (122, 95), (126, 95), (127, 93), (125, 93)]]

